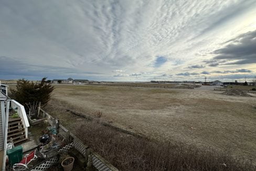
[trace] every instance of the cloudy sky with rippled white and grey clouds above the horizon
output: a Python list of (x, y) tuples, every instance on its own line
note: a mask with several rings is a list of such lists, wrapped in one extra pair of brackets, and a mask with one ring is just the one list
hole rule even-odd
[(256, 78), (256, 1), (0, 0), (0, 79)]

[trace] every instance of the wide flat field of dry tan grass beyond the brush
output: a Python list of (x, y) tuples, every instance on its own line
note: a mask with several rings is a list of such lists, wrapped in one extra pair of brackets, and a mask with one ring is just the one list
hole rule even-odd
[(255, 163), (255, 97), (223, 95), (210, 87), (185, 90), (56, 84), (55, 88), (53, 99), (84, 113), (100, 110), (103, 120), (127, 130), (159, 141), (211, 146)]

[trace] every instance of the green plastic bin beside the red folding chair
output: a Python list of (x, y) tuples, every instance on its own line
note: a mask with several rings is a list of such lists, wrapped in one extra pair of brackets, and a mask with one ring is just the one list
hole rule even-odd
[(14, 164), (19, 163), (23, 158), (22, 146), (19, 145), (12, 149), (9, 149), (6, 152), (6, 155), (8, 155), (9, 166), (13, 167)]

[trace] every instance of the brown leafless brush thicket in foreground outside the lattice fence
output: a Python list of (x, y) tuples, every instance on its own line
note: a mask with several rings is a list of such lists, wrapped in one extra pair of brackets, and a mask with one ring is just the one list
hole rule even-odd
[[(87, 129), (84, 129), (86, 127)], [(96, 122), (86, 122), (77, 136), (120, 170), (255, 170), (251, 162), (211, 148), (152, 142)]]

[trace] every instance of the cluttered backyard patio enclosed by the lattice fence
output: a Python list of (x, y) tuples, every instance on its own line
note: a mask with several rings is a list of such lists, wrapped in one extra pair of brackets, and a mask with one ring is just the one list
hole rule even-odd
[[(72, 157), (72, 170), (118, 170), (59, 125), (58, 119), (45, 114), (47, 119), (44, 122), (28, 127), (28, 140), (14, 147), (22, 147), (23, 158), (27, 156), (26, 166), (18, 164), (19, 167), (15, 167), (12, 161), (8, 161), (6, 170), (63, 170), (63, 161)], [(46, 142), (42, 141), (44, 138)]]

